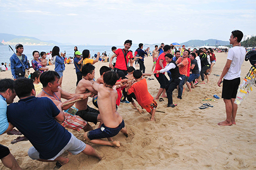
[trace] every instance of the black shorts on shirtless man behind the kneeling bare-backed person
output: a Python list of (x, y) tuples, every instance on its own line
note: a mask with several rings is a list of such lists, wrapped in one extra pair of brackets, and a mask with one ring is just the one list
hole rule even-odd
[(94, 124), (97, 124), (98, 120), (97, 117), (99, 115), (99, 111), (93, 108), (90, 108), (87, 105), (87, 109), (86, 110), (80, 110), (78, 112), (76, 112), (76, 115), (80, 116), (83, 120), (87, 121), (87, 122), (92, 122)]

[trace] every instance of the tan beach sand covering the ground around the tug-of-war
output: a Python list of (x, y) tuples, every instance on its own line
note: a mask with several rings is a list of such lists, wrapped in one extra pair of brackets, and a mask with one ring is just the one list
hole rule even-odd
[[(207, 101), (214, 107), (200, 110), (206, 98), (213, 95), (221, 97), (222, 88), (217, 86), (219, 77), (226, 63), (227, 55), (216, 53), (217, 62), (213, 67), (210, 82), (199, 84), (188, 92), (188, 88), (178, 100), (177, 89), (173, 91), (175, 108), (167, 108), (167, 98), (158, 102), (159, 111), (156, 112), (156, 122), (150, 122), (150, 115), (138, 113), (131, 104), (121, 103), (118, 112), (122, 115), (129, 132), (129, 137), (122, 133), (113, 137), (121, 142), (120, 148), (91, 145), (104, 158), (96, 158), (83, 153), (70, 155), (63, 154), (69, 163), (60, 169), (254, 169), (256, 168), (256, 116), (255, 95), (253, 87), (249, 97), (238, 106), (236, 123), (232, 126), (218, 126), (217, 123), (226, 119), (223, 99)], [(108, 63), (98, 62), (96, 78), (99, 77), (101, 66)], [(152, 58), (145, 59), (146, 72), (150, 73)], [(137, 67), (138, 68), (138, 67)], [(241, 80), (250, 68), (249, 62), (243, 62)], [(32, 69), (31, 69), (32, 70)], [(50, 70), (54, 70), (51, 66)], [(11, 77), (10, 71), (1, 72), (0, 79)], [(152, 76), (154, 77), (154, 75)], [(157, 80), (148, 81), (149, 93), (155, 97), (159, 88)], [(66, 65), (63, 78), (63, 89), (74, 93), (76, 74), (74, 65)], [(18, 101), (16, 97), (15, 101)], [(93, 104), (88, 103), (90, 107)], [(92, 125), (92, 124), (91, 124)], [(96, 127), (96, 126), (93, 126)], [(82, 140), (83, 132), (69, 130), (78, 139)], [(31, 147), (29, 141), (10, 144), (17, 136), (2, 135), (0, 143), (7, 146), (23, 169), (52, 169), (55, 162), (39, 162), (31, 160), (27, 154)], [(87, 143), (87, 142), (86, 142)], [(0, 169), (7, 169), (0, 164)]]

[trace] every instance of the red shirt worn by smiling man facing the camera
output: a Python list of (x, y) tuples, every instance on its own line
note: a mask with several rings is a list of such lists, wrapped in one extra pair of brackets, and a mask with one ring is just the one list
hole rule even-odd
[[(126, 65), (125, 60), (124, 60), (124, 55), (123, 55), (122, 49), (119, 48), (114, 53), (117, 55), (117, 61), (115, 62), (115, 67), (114, 68), (117, 68), (117, 69), (120, 69), (120, 70), (127, 70), (127, 65)], [(125, 51), (124, 51), (124, 53), (125, 53)], [(133, 54), (132, 54), (131, 51), (129, 51), (126, 55), (126, 62), (127, 63), (129, 62), (130, 58), (133, 58)]]

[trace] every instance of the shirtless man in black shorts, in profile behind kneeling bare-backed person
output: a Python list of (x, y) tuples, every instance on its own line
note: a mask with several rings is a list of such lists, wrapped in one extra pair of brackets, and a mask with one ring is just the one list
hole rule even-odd
[[(92, 88), (92, 83), (94, 83), (95, 67), (90, 63), (85, 64), (85, 66), (82, 68), (82, 75), (83, 78), (77, 84), (75, 93), (85, 94), (91, 92), (96, 95), (98, 92)], [(99, 114), (100, 112), (96, 109), (90, 108), (87, 105), (87, 102), (88, 98), (76, 102), (76, 108), (78, 109), (76, 115), (82, 117), (82, 119), (86, 120), (87, 122), (93, 122), (94, 124), (101, 122)]]

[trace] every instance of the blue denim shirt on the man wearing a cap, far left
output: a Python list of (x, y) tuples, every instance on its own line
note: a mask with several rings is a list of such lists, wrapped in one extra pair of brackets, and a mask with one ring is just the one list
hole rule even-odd
[[(22, 63), (23, 64), (22, 64)], [(15, 68), (22, 68), (22, 71), (25, 73), (25, 69), (28, 68), (28, 58), (26, 55), (22, 54), (22, 59), (21, 62), (19, 60), (19, 58), (16, 56), (16, 54), (13, 54), (10, 57), (10, 69), (11, 69), (11, 74), (13, 75), (14, 79), (17, 79), (18, 77), (16, 77), (15, 75)], [(24, 66), (25, 68), (24, 68)]]

